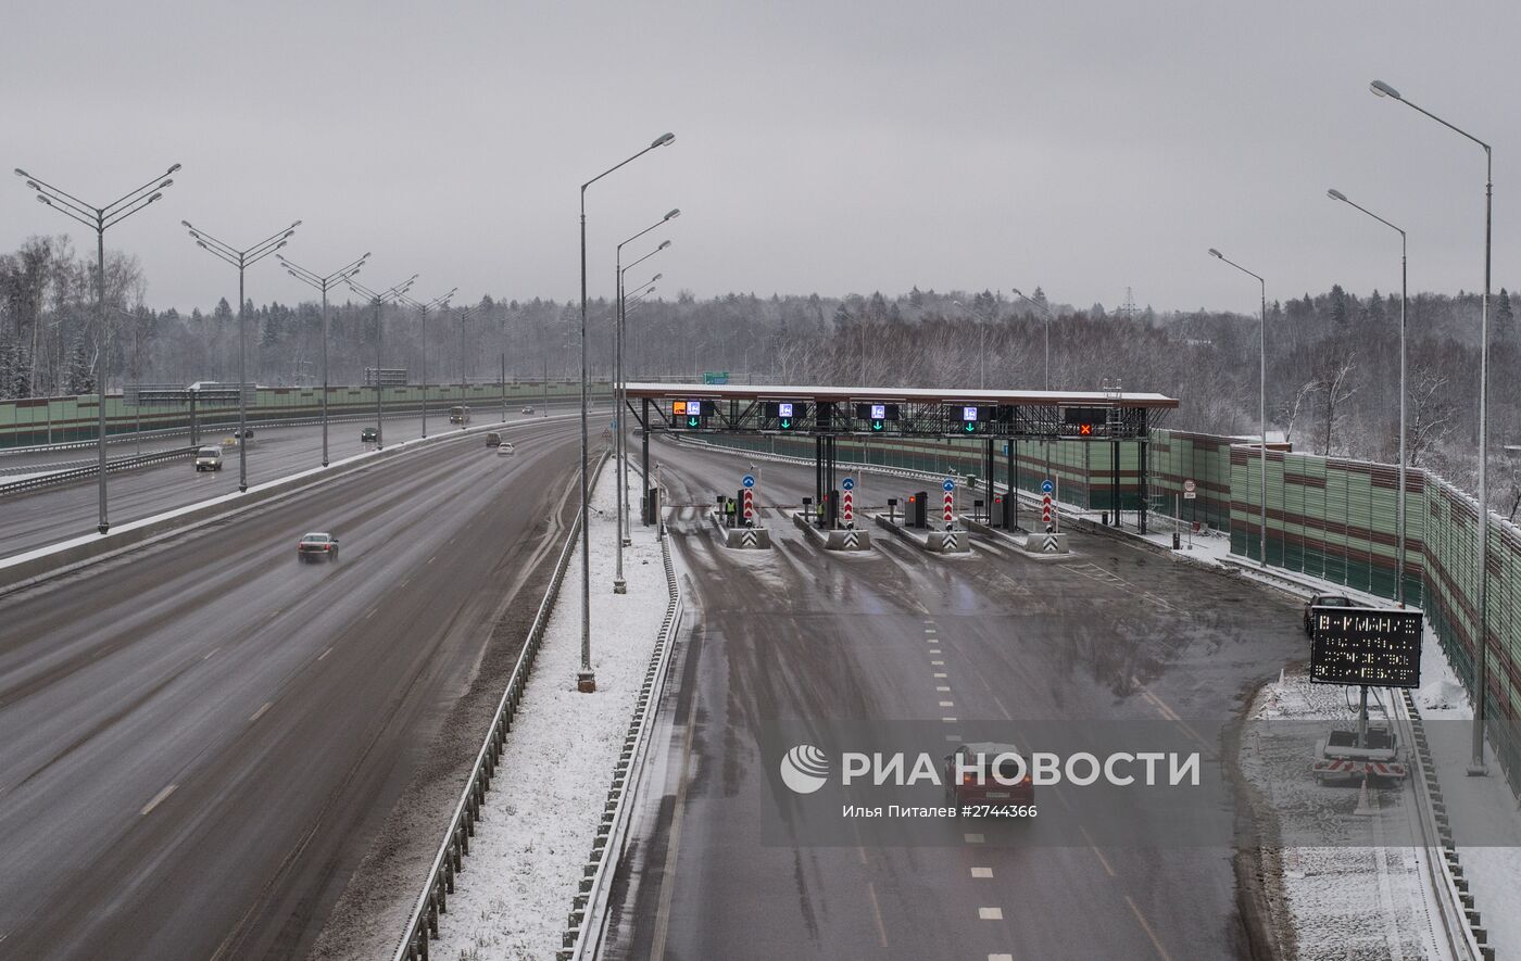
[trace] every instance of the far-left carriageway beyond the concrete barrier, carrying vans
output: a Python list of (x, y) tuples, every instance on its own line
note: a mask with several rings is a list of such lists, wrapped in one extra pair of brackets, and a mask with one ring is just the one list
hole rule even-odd
[[(566, 408), (555, 408), (555, 414)], [(497, 423), (499, 411), (490, 414), (473, 411), (472, 424)], [(538, 414), (520, 414), (514, 408), (508, 414), (508, 430), (520, 424), (543, 420)], [(421, 436), (421, 417), (386, 418), (386, 442)], [(364, 421), (329, 424), (329, 458), (336, 461), (364, 453), (370, 444), (360, 441)], [(458, 430), (458, 426), (453, 426)], [(447, 433), (450, 429), (447, 411), (429, 412), (429, 435)], [(221, 442), (227, 432), (205, 433), (208, 444)], [(481, 441), (484, 442), (484, 441)], [(160, 444), (161, 446), (161, 444)], [(152, 444), (144, 442), (144, 450)], [(113, 444), (110, 456), (123, 456), (131, 444)], [(78, 455), (78, 452), (70, 452)], [(248, 482), (262, 484), (292, 473), (310, 470), (321, 464), (322, 427), (303, 424), (292, 427), (257, 427), (248, 447)], [(38, 455), (17, 455), (38, 456)], [(47, 455), (56, 458), (56, 453)], [(9, 462), (9, 461), (8, 461)], [(93, 464), (94, 461), (90, 459)], [(0, 482), (5, 477), (0, 476)], [(108, 509), (113, 525), (152, 517), (173, 508), (219, 497), (237, 490), (237, 449), (224, 449), (224, 465), (219, 471), (196, 471), (189, 459), (166, 461), (138, 470), (113, 471), (108, 479)], [(0, 497), (0, 557), (23, 553), (44, 544), (70, 537), (94, 534), (97, 519), (97, 493), (94, 477), (46, 487), (30, 493)]]

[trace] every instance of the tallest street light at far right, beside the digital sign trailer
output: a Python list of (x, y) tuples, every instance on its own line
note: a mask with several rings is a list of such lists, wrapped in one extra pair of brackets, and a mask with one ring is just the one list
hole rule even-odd
[(1484, 300), (1481, 301), (1478, 315), (1478, 631), (1474, 642), (1474, 654), (1478, 660), (1477, 678), (1474, 683), (1474, 756), (1468, 763), (1468, 774), (1471, 777), (1483, 777), (1489, 774), (1489, 765), (1484, 763), (1484, 721), (1489, 716), (1488, 701), (1489, 701), (1489, 487), (1488, 487), (1488, 464), (1489, 464), (1489, 251), (1491, 251), (1491, 231), (1494, 224), (1494, 196), (1495, 196), (1495, 152), (1494, 149), (1474, 137), (1460, 126), (1454, 126), (1437, 117), (1431, 111), (1418, 106), (1399, 96), (1399, 91), (1383, 81), (1373, 81), (1369, 84), (1369, 90), (1375, 96), (1390, 97), (1399, 100), (1410, 109), (1425, 114), (1427, 117), (1436, 120), (1454, 134), (1460, 134), (1468, 140), (1472, 140), (1484, 151)]

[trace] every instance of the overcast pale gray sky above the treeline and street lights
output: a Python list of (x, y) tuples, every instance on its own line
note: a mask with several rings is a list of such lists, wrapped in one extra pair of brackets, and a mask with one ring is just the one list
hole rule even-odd
[[(236, 298), (189, 219), (461, 301), (592, 293), (671, 207), (662, 293), (1027, 292), (1113, 309), (1255, 307), (1342, 283), (1483, 284), (1483, 154), (1367, 91), (1381, 78), (1497, 152), (1495, 287), (1521, 283), (1515, 3), (27, 3), (0, 32), (6, 169), (116, 198), (106, 237), (155, 306)], [(0, 249), (91, 237), (0, 189)], [(657, 237), (662, 234), (651, 234)], [(637, 242), (631, 251), (643, 251)], [(249, 297), (307, 292), (271, 263)]]

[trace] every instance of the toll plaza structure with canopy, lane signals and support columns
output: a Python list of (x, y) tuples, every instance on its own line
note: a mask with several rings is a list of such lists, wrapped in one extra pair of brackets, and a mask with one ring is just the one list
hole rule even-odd
[[(625, 394), (628, 411), (640, 426), (646, 477), (649, 435), (656, 432), (677, 436), (726, 433), (812, 436), (814, 497), (805, 499), (800, 515), (794, 515), (794, 523), (802, 520), (809, 529), (830, 537), (837, 531), (865, 534), (861, 519), (855, 515), (852, 491), (843, 485), (847, 477), (840, 476), (835, 455), (838, 438), (981, 441), (983, 490), (967, 491), (970, 496), (964, 496), (960, 503), (972, 508), (969, 517), (973, 526), (1033, 535), (1027, 538), (1025, 549), (1036, 553), (1051, 552), (1051, 535), (1056, 535), (1056, 552), (1060, 552), (1062, 538), (1049, 520), (1053, 514), (1049, 491), (1042, 502), (1042, 512), (1021, 519), (1019, 497), (1015, 494), (1019, 490), (1016, 446), (1057, 439), (1116, 446), (1121, 441), (1138, 442), (1141, 447), (1138, 525), (1144, 534), (1148, 432), (1177, 408), (1176, 398), (1162, 394), (1121, 391), (630, 383)], [(1002, 491), (996, 491), (993, 484), (999, 444), (1004, 459)], [(1118, 464), (1118, 459), (1115, 462)], [(897, 531), (923, 531), (925, 544), (931, 550), (969, 549), (967, 525), (958, 520), (963, 512), (957, 511), (957, 482), (948, 477), (946, 484), (951, 484), (951, 490), (911, 491), (891, 499), (890, 515), (884, 519), (878, 514), (876, 523)], [(645, 523), (653, 523), (657, 514), (656, 493), (645, 490), (642, 500)], [(902, 523), (897, 520), (899, 506), (903, 508)], [(931, 538), (929, 534), (937, 537)], [(856, 540), (859, 543), (861, 538)], [(935, 541), (935, 546), (929, 546), (931, 541)]]

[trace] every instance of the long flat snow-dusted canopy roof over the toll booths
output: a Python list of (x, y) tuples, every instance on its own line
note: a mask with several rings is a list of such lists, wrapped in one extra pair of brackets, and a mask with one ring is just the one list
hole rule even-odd
[(1176, 409), (1177, 398), (1118, 391), (975, 391), (963, 388), (835, 388), (780, 383), (630, 383), (628, 397), (648, 400), (812, 400), (984, 403), (1034, 408), (1159, 408)]

